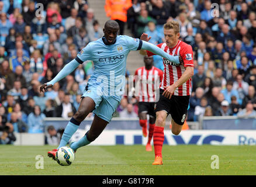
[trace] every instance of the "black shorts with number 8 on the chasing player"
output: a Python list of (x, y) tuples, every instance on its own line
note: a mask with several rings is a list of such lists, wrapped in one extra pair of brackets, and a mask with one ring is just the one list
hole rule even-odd
[(188, 112), (189, 95), (177, 96), (172, 95), (171, 99), (165, 98), (162, 95), (163, 89), (160, 89), (159, 101), (156, 103), (155, 112), (164, 110), (167, 115), (171, 115), (175, 123), (183, 125)]

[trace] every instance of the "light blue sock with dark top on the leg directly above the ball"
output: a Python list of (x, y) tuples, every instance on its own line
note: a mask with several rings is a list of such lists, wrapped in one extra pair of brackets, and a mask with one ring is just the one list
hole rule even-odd
[(66, 146), (68, 141), (70, 140), (71, 136), (77, 131), (79, 127), (79, 122), (75, 120), (74, 118), (70, 119), (70, 122), (68, 122), (67, 127), (65, 127), (63, 136), (61, 137), (60, 145), (58, 148)]

